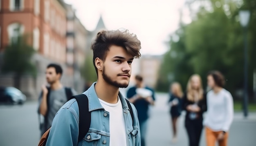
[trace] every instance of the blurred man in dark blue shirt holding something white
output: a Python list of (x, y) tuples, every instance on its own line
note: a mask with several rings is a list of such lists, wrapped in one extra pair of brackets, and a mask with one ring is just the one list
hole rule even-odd
[(154, 105), (155, 92), (143, 83), (141, 75), (135, 76), (136, 85), (129, 88), (127, 98), (137, 109), (139, 126), (141, 131), (141, 146), (146, 146), (145, 138), (148, 126), (148, 109), (150, 105)]

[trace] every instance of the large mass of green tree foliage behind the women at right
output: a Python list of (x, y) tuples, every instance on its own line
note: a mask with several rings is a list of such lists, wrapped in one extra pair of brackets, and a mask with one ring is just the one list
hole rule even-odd
[[(200, 0), (195, 0), (200, 1)], [(251, 18), (248, 33), (249, 91), (252, 93), (253, 70), (256, 69), (256, 0), (208, 0), (211, 9), (200, 6), (190, 24), (182, 24), (170, 40), (170, 50), (164, 54), (159, 73), (158, 89), (168, 91), (177, 81), (186, 89), (189, 76), (197, 73), (206, 88), (206, 75), (221, 71), (231, 93), (243, 87), (244, 46), (243, 29), (239, 23), (240, 9), (249, 9)], [(175, 38), (175, 39), (174, 39)], [(178, 39), (177, 39), (178, 38)], [(172, 78), (168, 76), (172, 76)], [(165, 79), (165, 80), (164, 80)], [(165, 86), (163, 88), (163, 86)]]

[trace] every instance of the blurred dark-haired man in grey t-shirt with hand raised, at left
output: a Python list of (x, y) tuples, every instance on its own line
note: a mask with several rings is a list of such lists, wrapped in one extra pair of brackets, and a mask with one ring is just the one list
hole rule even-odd
[(50, 86), (47, 89), (47, 87), (43, 85), (42, 93), (39, 97), (38, 113), (43, 115), (43, 118), (40, 118), (41, 135), (52, 126), (52, 120), (61, 106), (67, 102), (68, 98), (76, 95), (74, 89), (63, 87), (61, 84), (62, 68), (60, 65), (49, 64), (45, 74), (47, 83)]

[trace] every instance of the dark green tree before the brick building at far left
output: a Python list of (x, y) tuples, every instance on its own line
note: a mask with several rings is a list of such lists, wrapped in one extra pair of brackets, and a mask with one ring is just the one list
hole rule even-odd
[(27, 44), (27, 36), (19, 35), (5, 47), (2, 72), (13, 73), (16, 88), (20, 88), (22, 75), (30, 74), (36, 77), (36, 66), (31, 62), (34, 53), (33, 47)]

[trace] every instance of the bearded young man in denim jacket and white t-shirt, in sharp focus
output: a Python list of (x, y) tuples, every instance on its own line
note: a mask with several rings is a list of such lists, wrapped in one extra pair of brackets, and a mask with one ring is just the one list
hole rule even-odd
[[(140, 41), (125, 31), (100, 31), (91, 49), (98, 80), (83, 94), (87, 95), (91, 124), (85, 137), (79, 137), (79, 107), (68, 101), (54, 117), (46, 146), (140, 146), (139, 121), (131, 104), (119, 93), (130, 81), (131, 64), (139, 58)], [(133, 125), (132, 125), (133, 123)]]

